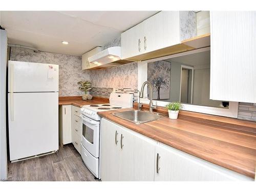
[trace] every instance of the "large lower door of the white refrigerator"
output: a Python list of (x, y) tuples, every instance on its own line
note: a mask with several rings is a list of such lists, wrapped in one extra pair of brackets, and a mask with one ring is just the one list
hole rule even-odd
[(58, 150), (58, 93), (9, 93), (10, 160)]

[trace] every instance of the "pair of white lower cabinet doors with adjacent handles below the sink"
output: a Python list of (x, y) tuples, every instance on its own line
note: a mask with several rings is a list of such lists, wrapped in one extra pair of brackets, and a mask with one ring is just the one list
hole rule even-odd
[(154, 181), (156, 143), (102, 118), (101, 180)]

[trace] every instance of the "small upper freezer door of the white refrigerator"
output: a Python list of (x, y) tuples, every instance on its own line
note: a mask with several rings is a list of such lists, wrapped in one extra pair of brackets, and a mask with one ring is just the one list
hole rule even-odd
[(58, 65), (8, 62), (8, 92), (57, 92)]

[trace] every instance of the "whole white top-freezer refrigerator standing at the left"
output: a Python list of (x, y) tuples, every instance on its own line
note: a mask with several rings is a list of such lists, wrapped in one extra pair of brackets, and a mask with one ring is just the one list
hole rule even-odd
[(12, 162), (58, 150), (58, 65), (8, 62)]

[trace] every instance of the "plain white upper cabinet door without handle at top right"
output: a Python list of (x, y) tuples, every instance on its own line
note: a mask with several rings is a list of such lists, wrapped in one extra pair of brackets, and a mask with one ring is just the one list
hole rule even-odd
[(210, 12), (210, 99), (256, 102), (256, 12)]

